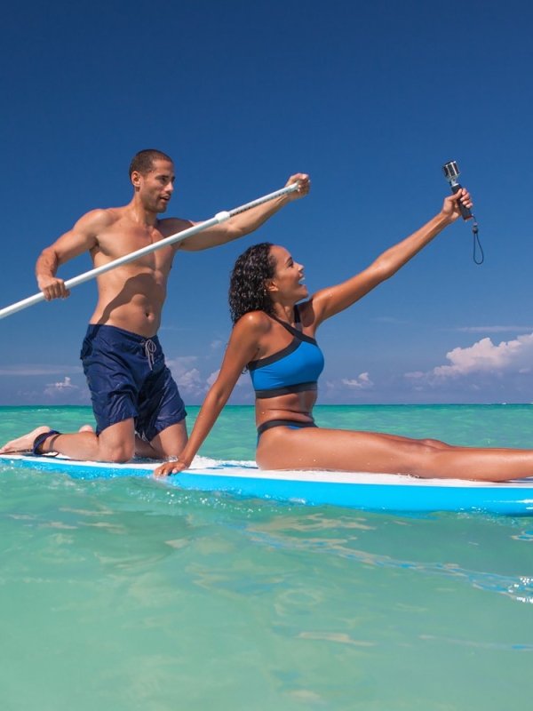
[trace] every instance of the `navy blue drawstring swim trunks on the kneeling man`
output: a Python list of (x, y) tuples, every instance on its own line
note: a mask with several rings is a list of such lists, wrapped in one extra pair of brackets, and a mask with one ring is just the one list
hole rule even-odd
[(135, 431), (151, 442), (187, 415), (159, 339), (121, 328), (90, 324), (80, 354), (91, 390), (97, 435), (106, 427), (135, 420)]

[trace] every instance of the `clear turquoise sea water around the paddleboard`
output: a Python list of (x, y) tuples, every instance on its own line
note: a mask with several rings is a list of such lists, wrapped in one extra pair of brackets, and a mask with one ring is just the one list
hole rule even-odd
[[(188, 408), (189, 423), (198, 408)], [(533, 406), (323, 406), (533, 445)], [(0, 408), (0, 441), (87, 408)], [(253, 459), (249, 407), (203, 447)], [(503, 709), (533, 692), (533, 518), (398, 516), (0, 467), (0, 708)]]

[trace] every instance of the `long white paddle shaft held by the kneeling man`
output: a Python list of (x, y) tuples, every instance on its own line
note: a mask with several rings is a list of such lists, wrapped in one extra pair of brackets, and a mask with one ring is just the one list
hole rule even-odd
[[(226, 222), (235, 215), (241, 214), (241, 212), (246, 212), (247, 210), (251, 210), (252, 207), (258, 207), (259, 205), (269, 203), (276, 197), (288, 195), (289, 193), (293, 193), (295, 190), (298, 190), (298, 182), (292, 183), (292, 185), (288, 185), (286, 188), (275, 190), (274, 193), (268, 193), (268, 195), (258, 197), (257, 200), (252, 200), (251, 203), (246, 203), (240, 205), (239, 207), (235, 207), (229, 212), (217, 212), (217, 214), (212, 217), (211, 220), (199, 222), (197, 225), (193, 225), (192, 228), (187, 228), (184, 229), (182, 232), (177, 232), (175, 235), (165, 237), (159, 242), (155, 242), (155, 244), (148, 244), (147, 247), (142, 247), (142, 249), (137, 250), (136, 252), (131, 252), (131, 254), (125, 254), (123, 257), (119, 257), (118, 260), (110, 261), (107, 264), (102, 265), (101, 267), (91, 269), (90, 271), (84, 272), (84, 274), (80, 274), (79, 276), (74, 276), (72, 279), (68, 279), (65, 282), (65, 286), (67, 287), (67, 289), (72, 289), (73, 286), (77, 286), (78, 284), (84, 284), (84, 282), (88, 282), (95, 276), (104, 274), (105, 272), (111, 271), (111, 269), (120, 267), (123, 264), (128, 264), (128, 262), (138, 260), (139, 257), (144, 257), (145, 254), (155, 252), (156, 250), (159, 250), (162, 247), (166, 247), (168, 244), (175, 244), (176, 242), (181, 242), (181, 240), (185, 239), (188, 236), (195, 235), (198, 232), (203, 232), (204, 229), (211, 228), (214, 225), (219, 225), (220, 222)], [(17, 301), (11, 306), (0, 309), (0, 319), (5, 318), (6, 316), (11, 316), (12, 314), (16, 314), (17, 311), (22, 311), (22, 309), (33, 306), (34, 304), (38, 304), (39, 301), (44, 301), (43, 292), (39, 292), (37, 294), (34, 294), (33, 296), (29, 296), (28, 299)]]

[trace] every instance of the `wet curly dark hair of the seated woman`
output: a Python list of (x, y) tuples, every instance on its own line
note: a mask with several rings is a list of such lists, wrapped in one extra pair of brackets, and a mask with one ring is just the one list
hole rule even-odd
[(264, 311), (274, 316), (274, 304), (266, 289), (267, 279), (275, 274), (275, 260), (269, 242), (252, 244), (236, 260), (229, 278), (229, 313), (235, 325), (251, 311)]

